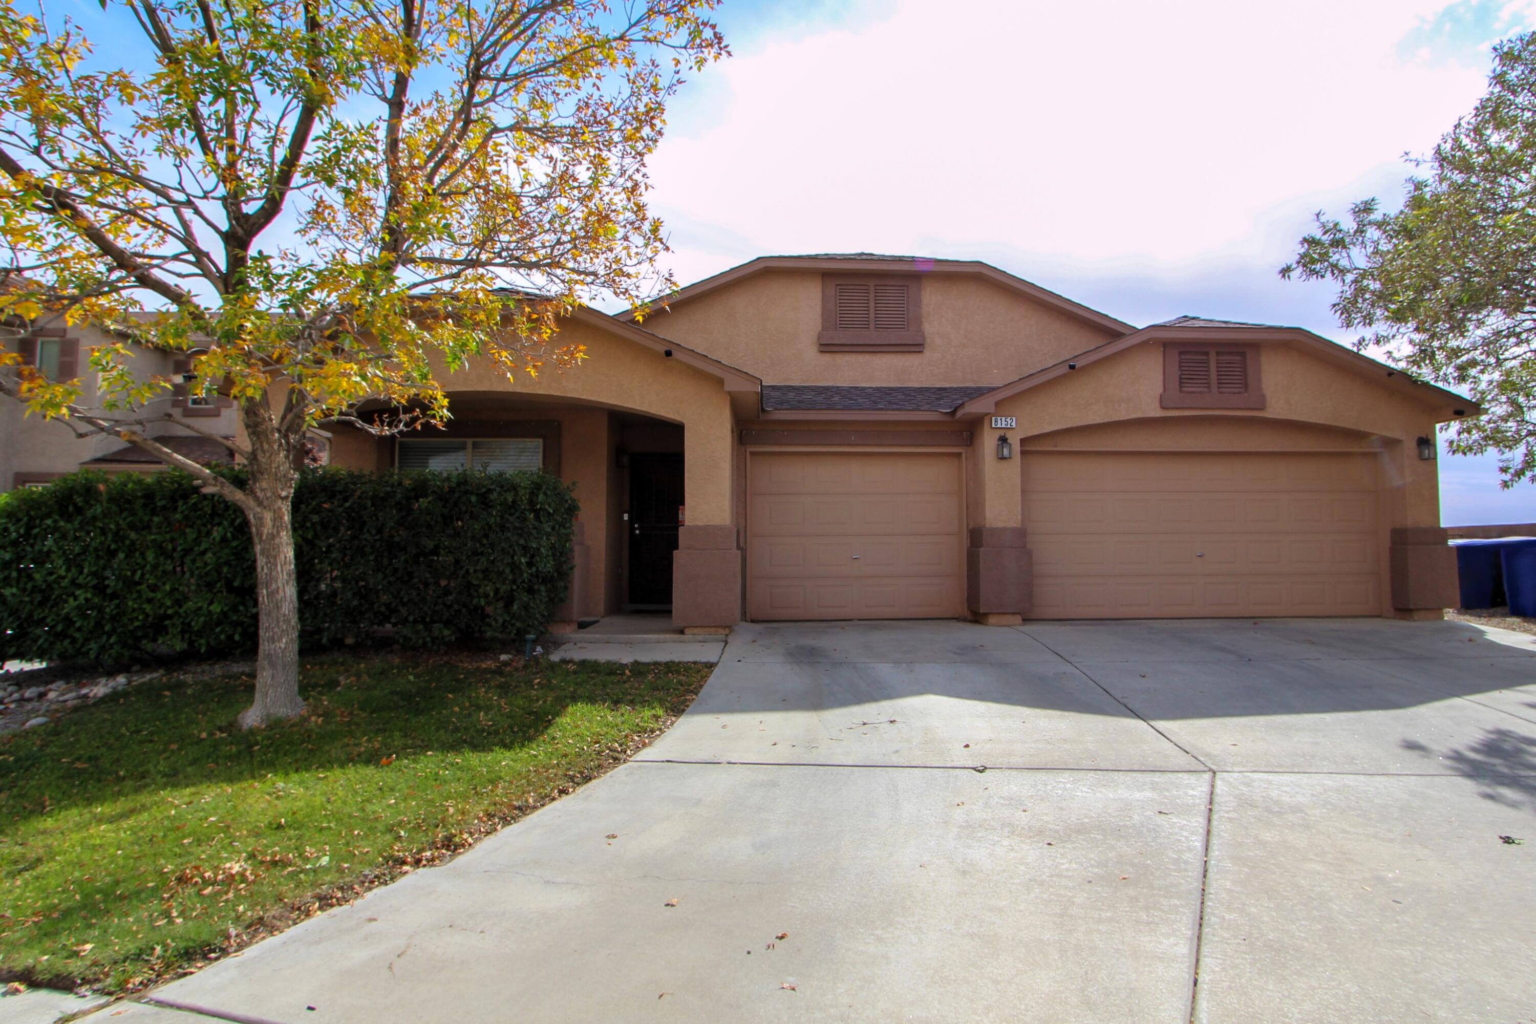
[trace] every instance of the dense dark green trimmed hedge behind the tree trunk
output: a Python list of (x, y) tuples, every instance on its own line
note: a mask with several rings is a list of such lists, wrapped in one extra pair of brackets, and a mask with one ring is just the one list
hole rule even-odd
[[(306, 649), (518, 642), (565, 599), (570, 487), (544, 473), (306, 471), (293, 494)], [(183, 473), (77, 473), (0, 494), (0, 660), (249, 652), (244, 516)]]

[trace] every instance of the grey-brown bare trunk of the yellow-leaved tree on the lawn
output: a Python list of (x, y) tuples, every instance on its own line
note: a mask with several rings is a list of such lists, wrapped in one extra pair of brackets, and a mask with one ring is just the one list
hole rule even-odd
[[(257, 553), (257, 697), (240, 714), (250, 729), (304, 711), (298, 695), (298, 574), (293, 568), (293, 470), (266, 401), (243, 410), (250, 442), (250, 540)], [(300, 439), (303, 441), (303, 439)]]

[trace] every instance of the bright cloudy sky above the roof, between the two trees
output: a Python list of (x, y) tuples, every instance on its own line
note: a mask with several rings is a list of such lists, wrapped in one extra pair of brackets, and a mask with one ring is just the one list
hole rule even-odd
[[(671, 270), (756, 255), (980, 258), (1134, 324), (1347, 342), (1281, 281), (1313, 212), (1387, 201), (1536, 0), (727, 0), (736, 52), (651, 163)], [(1447, 524), (1536, 522), (1495, 459), (1441, 462)]]

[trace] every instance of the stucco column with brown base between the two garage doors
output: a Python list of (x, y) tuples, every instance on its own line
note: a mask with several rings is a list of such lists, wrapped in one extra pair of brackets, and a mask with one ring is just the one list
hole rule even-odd
[[(1008, 434), (1014, 457), (997, 457)], [(1021, 445), (1017, 430), (994, 430), (983, 419), (971, 451), (971, 536), (966, 547), (966, 608), (988, 626), (1023, 622), (1031, 608), (1032, 562), (1023, 525)]]

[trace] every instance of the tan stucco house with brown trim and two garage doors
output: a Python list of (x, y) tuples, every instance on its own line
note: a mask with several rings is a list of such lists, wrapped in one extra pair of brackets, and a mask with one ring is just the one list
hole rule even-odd
[[(1135, 329), (995, 267), (765, 256), (588, 359), (449, 378), (430, 436), (333, 465), (542, 468), (581, 500), (561, 616), (1399, 616), (1455, 603), (1436, 424), (1481, 410), (1295, 327)], [(18, 470), (22, 467), (17, 467)]]

